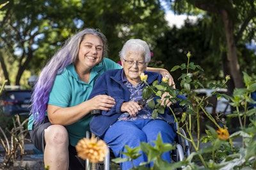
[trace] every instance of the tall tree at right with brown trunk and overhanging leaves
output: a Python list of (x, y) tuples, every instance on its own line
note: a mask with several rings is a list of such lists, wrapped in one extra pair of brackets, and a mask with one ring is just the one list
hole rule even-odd
[[(237, 57), (237, 46), (255, 39), (255, 16), (256, 2), (254, 0), (176, 0), (172, 9), (177, 13), (198, 14), (198, 9), (204, 17), (211, 18), (207, 26), (212, 29), (212, 45), (218, 46), (216, 52), (223, 57), (223, 71), (230, 74), (232, 84), (229, 89), (244, 87), (239, 60)], [(196, 10), (197, 9), (197, 10)], [(225, 76), (225, 75), (224, 75)]]

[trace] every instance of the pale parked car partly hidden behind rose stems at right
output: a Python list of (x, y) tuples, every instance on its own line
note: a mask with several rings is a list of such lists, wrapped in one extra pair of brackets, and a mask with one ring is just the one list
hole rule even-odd
[[(214, 92), (214, 89), (196, 89), (195, 92), (197, 96), (212, 96), (212, 92)], [(227, 94), (227, 89), (218, 89), (216, 90), (219, 94)], [(213, 99), (213, 100), (212, 100)], [(216, 113), (225, 113), (225, 115), (231, 113), (231, 106), (228, 101), (228, 99), (225, 99), (224, 97), (221, 97), (220, 100), (216, 99), (216, 96), (212, 96), (212, 99), (209, 99), (209, 103), (207, 106), (205, 106), (205, 110), (209, 113), (212, 113), (213, 109), (215, 108)]]

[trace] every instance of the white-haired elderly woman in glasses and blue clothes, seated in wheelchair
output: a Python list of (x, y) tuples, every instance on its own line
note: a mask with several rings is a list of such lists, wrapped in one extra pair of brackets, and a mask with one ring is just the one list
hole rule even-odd
[[(148, 74), (148, 84), (162, 79), (161, 74), (145, 72), (150, 62), (150, 50), (147, 43), (141, 39), (130, 39), (120, 52), (123, 69), (106, 71), (99, 77), (92, 90), (90, 98), (107, 94), (115, 99), (113, 108), (95, 115), (90, 122), (91, 131), (100, 136), (113, 150), (115, 157), (125, 157), (124, 146), (140, 146), (141, 142), (153, 144), (157, 134), (161, 133), (164, 143), (173, 143), (175, 130), (167, 122), (173, 123), (173, 116), (167, 113), (159, 114), (152, 119), (152, 110), (146, 105), (141, 108), (136, 101), (142, 99), (145, 83), (140, 79), (140, 73)], [(164, 98), (162, 98), (164, 99)], [(167, 100), (167, 99), (166, 99)], [(163, 101), (164, 103), (164, 101)], [(170, 106), (170, 101), (165, 101)], [(163, 159), (170, 162), (170, 152), (163, 154)], [(147, 161), (145, 155), (134, 160), (134, 166)], [(131, 162), (121, 164), (122, 169), (131, 169)]]

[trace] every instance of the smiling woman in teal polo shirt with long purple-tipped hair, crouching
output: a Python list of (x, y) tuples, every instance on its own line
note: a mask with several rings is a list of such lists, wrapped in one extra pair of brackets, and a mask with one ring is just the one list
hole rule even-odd
[[(35, 147), (44, 152), (45, 166), (84, 169), (75, 146), (90, 131), (90, 111), (109, 111), (115, 104), (107, 95), (88, 100), (101, 74), (122, 68), (107, 54), (104, 34), (86, 28), (67, 39), (42, 69), (33, 89), (28, 130)], [(147, 69), (170, 75), (166, 69)], [(172, 78), (169, 83), (174, 84)]]

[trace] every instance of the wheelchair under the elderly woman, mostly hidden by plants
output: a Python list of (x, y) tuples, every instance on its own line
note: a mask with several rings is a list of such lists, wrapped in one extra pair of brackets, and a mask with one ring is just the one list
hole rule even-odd
[[(176, 125), (176, 129), (177, 129), (177, 123)], [(186, 132), (184, 131), (184, 129), (179, 128), (179, 132), (180, 134), (182, 134), (183, 136), (186, 136)], [(90, 138), (90, 132), (86, 133), (86, 138)], [(190, 155), (190, 148), (189, 148), (189, 143), (187, 139), (182, 138), (182, 136), (180, 136), (179, 134), (177, 134), (175, 141), (173, 142), (173, 145), (176, 146), (175, 150), (172, 150), (172, 153), (170, 155), (172, 163), (173, 162), (179, 162), (182, 161), (185, 157), (188, 157)], [(115, 156), (113, 154), (113, 152), (111, 152), (111, 148), (109, 148), (108, 146), (108, 154), (106, 155), (104, 162), (98, 162), (96, 164), (92, 164), (92, 170), (110, 170), (110, 163), (111, 163), (111, 159), (114, 159)], [(88, 164), (90, 164), (90, 162), (88, 160), (86, 160), (86, 167), (88, 167)], [(184, 167), (181, 167), (177, 170), (183, 169)]]

